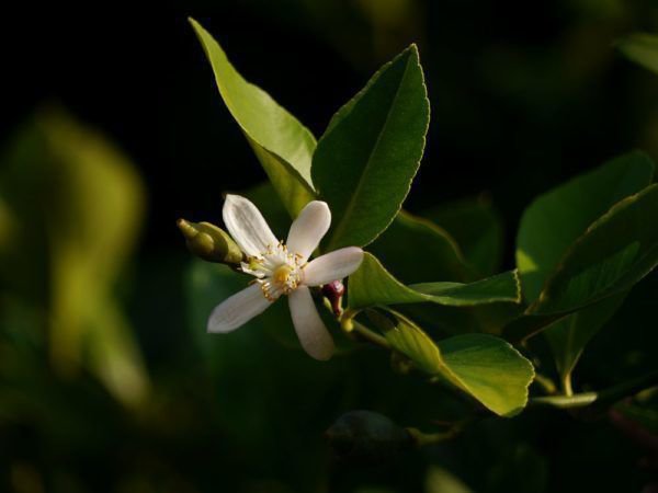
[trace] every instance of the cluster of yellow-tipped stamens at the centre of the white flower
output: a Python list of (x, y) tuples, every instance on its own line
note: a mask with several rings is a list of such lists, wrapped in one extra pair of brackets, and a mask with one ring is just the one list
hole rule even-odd
[(303, 257), (290, 253), (287, 246), (280, 241), (276, 245), (268, 245), (268, 250), (259, 256), (249, 256), (241, 263), (242, 272), (256, 277), (264, 297), (275, 301), (281, 295), (288, 295), (297, 289), (302, 282)]

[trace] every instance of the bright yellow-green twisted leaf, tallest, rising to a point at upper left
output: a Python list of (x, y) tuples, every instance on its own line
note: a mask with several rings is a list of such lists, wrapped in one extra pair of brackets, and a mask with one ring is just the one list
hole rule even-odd
[(215, 72), (219, 94), (256, 152), (291, 216), (314, 198), (313, 134), (262, 89), (246, 81), (219, 44), (196, 21), (190, 23)]

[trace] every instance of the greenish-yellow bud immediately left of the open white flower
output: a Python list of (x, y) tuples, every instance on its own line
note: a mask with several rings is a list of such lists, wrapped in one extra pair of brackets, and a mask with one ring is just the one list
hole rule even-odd
[(222, 228), (185, 219), (179, 219), (177, 225), (185, 237), (188, 250), (196, 256), (222, 264), (239, 264), (242, 261), (240, 248)]

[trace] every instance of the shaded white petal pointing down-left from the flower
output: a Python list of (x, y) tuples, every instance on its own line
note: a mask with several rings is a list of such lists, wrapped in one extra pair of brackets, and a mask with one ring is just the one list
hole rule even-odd
[(249, 322), (271, 305), (260, 284), (254, 283), (220, 302), (208, 319), (208, 332), (226, 333)]

